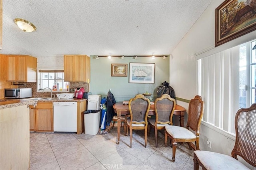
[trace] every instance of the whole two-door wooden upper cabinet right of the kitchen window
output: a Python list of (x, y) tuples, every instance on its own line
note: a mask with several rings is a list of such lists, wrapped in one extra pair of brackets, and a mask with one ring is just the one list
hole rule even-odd
[(90, 57), (64, 55), (64, 81), (90, 82)]

